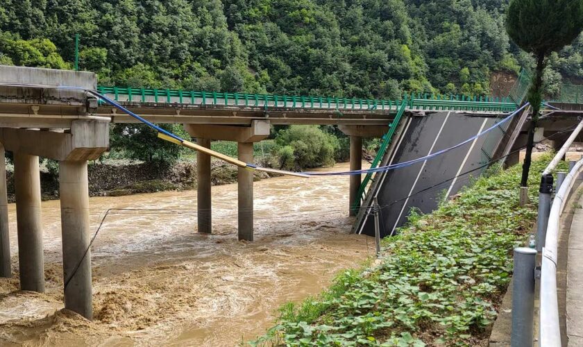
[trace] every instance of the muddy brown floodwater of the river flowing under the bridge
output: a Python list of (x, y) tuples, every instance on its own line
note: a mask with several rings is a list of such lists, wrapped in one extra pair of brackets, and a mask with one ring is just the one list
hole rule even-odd
[(348, 177), (271, 178), (254, 195), (252, 243), (237, 241), (237, 185), (212, 188), (213, 235), (195, 232), (196, 191), (91, 198), (92, 230), (108, 209), (137, 209), (112, 210), (92, 246), (92, 322), (61, 311), (59, 201), (43, 202), (47, 293), (0, 278), (0, 345), (238, 346), (374, 253), (349, 234)]

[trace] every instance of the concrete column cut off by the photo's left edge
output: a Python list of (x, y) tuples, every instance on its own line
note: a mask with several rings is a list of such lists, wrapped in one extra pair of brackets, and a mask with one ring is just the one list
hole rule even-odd
[(0, 144), (0, 277), (10, 277), (10, 234), (8, 233), (8, 198), (6, 197), (6, 159)]

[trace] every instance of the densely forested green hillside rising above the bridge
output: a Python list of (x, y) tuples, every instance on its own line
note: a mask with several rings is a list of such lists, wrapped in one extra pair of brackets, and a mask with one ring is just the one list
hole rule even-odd
[[(0, 63), (80, 67), (103, 85), (395, 98), (489, 94), (532, 64), (504, 0), (3, 0)], [(583, 78), (583, 38), (550, 59), (550, 93)]]

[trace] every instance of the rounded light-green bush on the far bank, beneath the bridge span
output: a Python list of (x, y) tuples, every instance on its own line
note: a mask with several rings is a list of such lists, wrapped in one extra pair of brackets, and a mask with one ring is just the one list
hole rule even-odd
[[(279, 167), (298, 170), (309, 167), (332, 166), (340, 145), (337, 137), (317, 126), (290, 126), (276, 136), (280, 156)], [(293, 149), (293, 161), (291, 154)]]

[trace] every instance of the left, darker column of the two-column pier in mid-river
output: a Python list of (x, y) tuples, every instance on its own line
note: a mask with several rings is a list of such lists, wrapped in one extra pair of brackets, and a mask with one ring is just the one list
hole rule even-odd
[[(196, 139), (196, 144), (210, 149), (210, 139)], [(212, 232), (212, 205), (210, 196), (210, 155), (196, 153), (198, 232), (210, 234)]]

